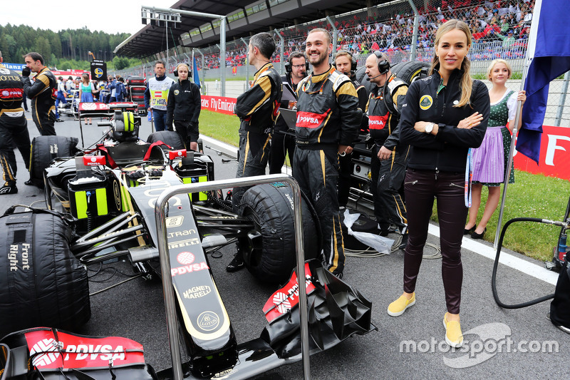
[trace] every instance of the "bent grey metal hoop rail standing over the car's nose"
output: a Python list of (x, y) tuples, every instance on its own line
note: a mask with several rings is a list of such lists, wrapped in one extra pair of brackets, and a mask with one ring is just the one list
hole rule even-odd
[[(254, 186), (261, 183), (283, 182), (291, 186), (293, 190), (293, 207), (295, 223), (295, 247), (297, 252), (297, 279), (305, 278), (305, 255), (303, 245), (303, 215), (301, 207), (301, 190), (297, 181), (284, 174), (258, 175), (247, 178), (234, 178), (231, 180), (217, 180), (204, 183), (192, 183), (189, 185), (172, 186), (163, 191), (155, 202), (155, 221), (158, 237), (158, 252), (160, 255), (160, 270), (162, 272), (162, 287), (165, 294), (166, 322), (168, 339), (170, 342), (170, 354), (172, 356), (172, 372), (175, 380), (184, 379), (182, 374), (182, 359), (178, 337), (178, 325), (176, 317), (175, 294), (170, 275), (170, 260), (167, 250), (165, 206), (174, 195), (188, 192), (202, 192), (224, 188)], [(303, 360), (304, 379), (311, 379), (311, 367), (309, 363), (309, 311), (307, 307), (307, 294), (305, 281), (297, 281), (299, 284), (299, 316), (301, 320), (301, 356)]]

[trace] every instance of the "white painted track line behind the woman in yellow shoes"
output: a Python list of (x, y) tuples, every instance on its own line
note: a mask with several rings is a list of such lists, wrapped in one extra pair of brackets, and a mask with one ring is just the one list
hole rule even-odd
[[(434, 236), (439, 237), (440, 227), (430, 224), (428, 232)], [(495, 250), (493, 247), (481, 244), (480, 242), (469, 239), (467, 237), (463, 238), (461, 247), (465, 248), (466, 250), (470, 250), (471, 252), (475, 252), (481, 256), (487, 257), (493, 261), (494, 257), (497, 255), (497, 250)], [(541, 279), (542, 281), (548, 282), (549, 284), (556, 285), (556, 281), (558, 281), (558, 273), (552, 272), (545, 267), (533, 264), (532, 262), (528, 262), (527, 260), (522, 260), (519, 257), (515, 257), (504, 251), (501, 252), (499, 263), (517, 269), (519, 272), (523, 272), (524, 274), (528, 274), (534, 278)]]

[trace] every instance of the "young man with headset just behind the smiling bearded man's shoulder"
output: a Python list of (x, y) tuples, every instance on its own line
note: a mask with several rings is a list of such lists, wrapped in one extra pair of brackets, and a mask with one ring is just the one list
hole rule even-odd
[[(346, 50), (341, 50), (334, 56), (336, 70), (351, 79), (358, 94), (358, 108), (364, 111), (366, 110), (366, 103), (368, 103), (368, 91), (356, 80), (356, 64), (356, 59)], [(368, 129), (368, 125), (364, 125), (364, 128)], [(353, 146), (348, 146), (348, 148), (346, 148), (346, 155), (341, 155), (341, 157), (338, 158), (338, 165), (340, 167), (338, 173), (338, 206), (341, 207), (341, 210), (343, 210), (348, 203), (348, 192), (351, 188), (352, 150)]]

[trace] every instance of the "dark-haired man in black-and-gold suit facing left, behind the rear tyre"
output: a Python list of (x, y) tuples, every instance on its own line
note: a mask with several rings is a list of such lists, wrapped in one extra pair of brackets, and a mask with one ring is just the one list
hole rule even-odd
[[(56, 76), (43, 66), (43, 57), (40, 53), (31, 52), (24, 56), (26, 67), (22, 69), (24, 76), (24, 91), (31, 100), (31, 117), (40, 135), (56, 135), (56, 98), (58, 83)], [(36, 73), (33, 84), (30, 73)]]

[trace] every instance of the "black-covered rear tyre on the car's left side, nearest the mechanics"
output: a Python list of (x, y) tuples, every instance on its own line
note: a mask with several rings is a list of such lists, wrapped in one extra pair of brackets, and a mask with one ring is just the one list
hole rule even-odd
[(31, 142), (30, 180), (43, 189), (43, 169), (54, 158), (69, 157), (78, 152), (78, 139), (66, 136), (36, 136)]

